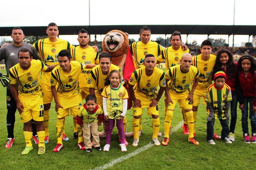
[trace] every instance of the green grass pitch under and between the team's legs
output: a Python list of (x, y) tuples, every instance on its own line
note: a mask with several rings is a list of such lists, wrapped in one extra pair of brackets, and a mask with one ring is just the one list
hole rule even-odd
[[(0, 70), (5, 72), (5, 70)], [(64, 148), (60, 152), (53, 152), (57, 138), (55, 131), (56, 114), (54, 103), (50, 109), (50, 143), (46, 144), (46, 153), (37, 154), (37, 146), (33, 143), (34, 150), (27, 155), (21, 152), (25, 147), (23, 135), (23, 124), (20, 122), (19, 114), (16, 112), (16, 123), (14, 128), (15, 142), (10, 149), (4, 146), (7, 139), (6, 129), (6, 89), (0, 85), (0, 169), (255, 169), (256, 167), (256, 144), (245, 144), (243, 142), (241, 128), (241, 112), (238, 110), (236, 124), (236, 141), (226, 144), (221, 140), (215, 140), (216, 145), (209, 145), (206, 141), (206, 108), (204, 105), (198, 107), (198, 121), (196, 123), (196, 139), (200, 145), (195, 146), (188, 142), (188, 136), (183, 135), (182, 114), (176, 106), (172, 119), (172, 129), (168, 146), (152, 145), (152, 120), (144, 110), (142, 117), (143, 134), (140, 137), (138, 147), (133, 147), (133, 139), (127, 139), (129, 145), (127, 152), (121, 152), (117, 129), (114, 128), (111, 147), (109, 152), (98, 152), (93, 149), (92, 153), (79, 150), (77, 140), (73, 139), (72, 116), (66, 118), (66, 134), (70, 141), (63, 142)], [(160, 100), (160, 132), (164, 131), (164, 100)], [(128, 131), (132, 131), (132, 111), (127, 113)], [(250, 122), (249, 122), (249, 129)], [(102, 128), (100, 127), (100, 131)], [(220, 135), (221, 127), (218, 120), (214, 131)], [(159, 137), (162, 141), (163, 137)], [(101, 147), (105, 141), (101, 139)]]

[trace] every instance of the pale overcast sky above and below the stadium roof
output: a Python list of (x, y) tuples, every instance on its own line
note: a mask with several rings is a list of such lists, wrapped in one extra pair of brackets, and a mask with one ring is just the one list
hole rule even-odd
[[(90, 0), (90, 20), (89, 0), (0, 0), (0, 4), (0, 27), (46, 26), (50, 22), (57, 25), (256, 25), (255, 0)], [(152, 40), (158, 36), (152, 35)], [(210, 37), (228, 39), (227, 35)], [(76, 37), (65, 38), (70, 43), (77, 42)], [(138, 40), (139, 36), (130, 38)], [(186, 36), (182, 39), (186, 42)], [(188, 36), (188, 42), (194, 39), (200, 44), (207, 35)], [(239, 45), (241, 41), (248, 42), (248, 36), (236, 35), (234, 39)]]

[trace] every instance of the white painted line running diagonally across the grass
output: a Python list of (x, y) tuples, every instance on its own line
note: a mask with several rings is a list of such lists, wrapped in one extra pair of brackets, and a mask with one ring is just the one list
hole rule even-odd
[[(176, 132), (180, 127), (182, 127), (182, 125), (183, 125), (183, 121), (181, 121), (177, 126), (172, 128), (171, 131), (170, 131), (170, 134)], [(145, 151), (147, 149), (150, 149), (152, 146), (154, 146), (154, 144), (153, 143), (149, 143), (148, 145), (145, 145), (144, 147), (141, 147), (141, 148), (135, 150), (134, 152), (131, 152), (131, 153), (125, 155), (125, 156), (121, 156), (121, 157), (119, 157), (117, 159), (114, 159), (114, 160), (110, 161), (108, 164), (96, 167), (93, 170), (104, 170), (104, 169), (110, 168), (110, 167), (114, 166), (117, 163), (120, 163), (120, 162), (122, 162), (122, 161), (124, 161), (126, 159), (131, 158), (132, 156), (135, 156), (135, 155), (139, 154), (140, 152), (143, 152), (143, 151)]]

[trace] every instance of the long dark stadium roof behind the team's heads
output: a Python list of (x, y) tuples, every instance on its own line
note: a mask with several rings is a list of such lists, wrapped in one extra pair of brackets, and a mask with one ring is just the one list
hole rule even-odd
[[(59, 35), (76, 35), (80, 29), (86, 29), (90, 34), (104, 35), (113, 29), (119, 29), (129, 34), (138, 34), (144, 25), (80, 25), (59, 26)], [(152, 34), (172, 34), (180, 31), (182, 34), (200, 35), (256, 35), (256, 25), (147, 25)], [(13, 27), (0, 27), (0, 36), (10, 35)], [(46, 26), (22, 27), (25, 35), (46, 35)]]

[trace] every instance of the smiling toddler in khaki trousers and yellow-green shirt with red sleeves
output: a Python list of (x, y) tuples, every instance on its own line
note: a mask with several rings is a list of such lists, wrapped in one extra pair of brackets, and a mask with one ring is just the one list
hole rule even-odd
[[(80, 150), (86, 149), (86, 152), (92, 152), (92, 142), (96, 150), (101, 151), (98, 125), (104, 120), (102, 108), (97, 103), (95, 95), (88, 95), (85, 99), (84, 108), (78, 111), (76, 123), (83, 129), (84, 144), (78, 145)], [(85, 145), (82, 147), (82, 145)]]

